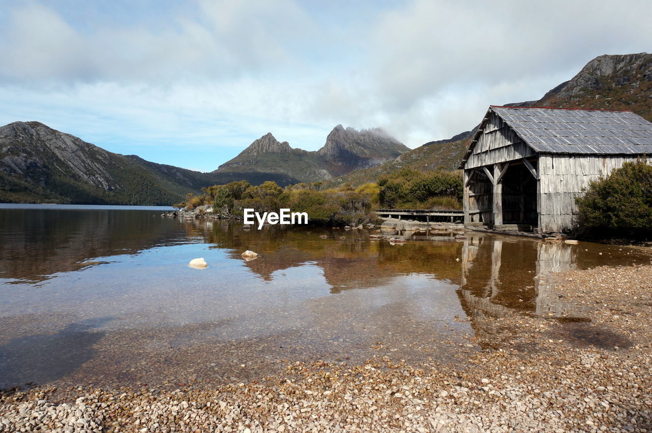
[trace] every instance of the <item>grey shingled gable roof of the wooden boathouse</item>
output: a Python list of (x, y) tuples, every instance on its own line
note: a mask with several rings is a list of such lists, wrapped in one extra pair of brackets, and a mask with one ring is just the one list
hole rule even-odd
[(652, 123), (631, 111), (491, 105), (471, 139), (464, 161), (484, 132), (492, 112), (536, 152), (600, 155), (652, 153)]

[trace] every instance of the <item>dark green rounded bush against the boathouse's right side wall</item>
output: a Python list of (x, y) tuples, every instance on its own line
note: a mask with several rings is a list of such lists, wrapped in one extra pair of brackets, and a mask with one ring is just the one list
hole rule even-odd
[(585, 236), (652, 235), (652, 167), (645, 160), (626, 162), (606, 178), (591, 182), (576, 199), (578, 231)]

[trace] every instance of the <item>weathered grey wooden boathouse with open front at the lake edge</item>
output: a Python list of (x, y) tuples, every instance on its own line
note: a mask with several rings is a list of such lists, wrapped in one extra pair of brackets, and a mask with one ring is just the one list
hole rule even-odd
[(489, 107), (460, 163), (464, 223), (565, 232), (591, 180), (652, 154), (652, 123), (630, 111)]

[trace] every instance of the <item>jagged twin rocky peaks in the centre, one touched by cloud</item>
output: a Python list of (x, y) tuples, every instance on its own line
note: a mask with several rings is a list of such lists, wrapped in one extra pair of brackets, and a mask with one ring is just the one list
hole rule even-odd
[(261, 172), (276, 173), (301, 182), (316, 182), (375, 167), (408, 151), (379, 128), (357, 131), (338, 125), (329, 133), (325, 145), (314, 152), (291, 148), (287, 141), (281, 143), (267, 133), (213, 173), (240, 173), (246, 180)]

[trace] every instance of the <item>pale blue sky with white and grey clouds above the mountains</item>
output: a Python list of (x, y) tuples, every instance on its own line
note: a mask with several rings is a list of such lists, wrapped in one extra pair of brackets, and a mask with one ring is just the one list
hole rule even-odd
[(0, 124), (213, 171), (337, 124), (410, 148), (652, 49), (652, 2), (0, 0)]

